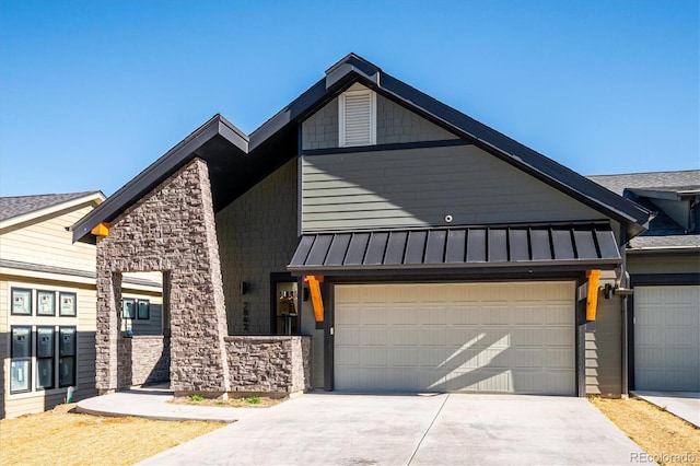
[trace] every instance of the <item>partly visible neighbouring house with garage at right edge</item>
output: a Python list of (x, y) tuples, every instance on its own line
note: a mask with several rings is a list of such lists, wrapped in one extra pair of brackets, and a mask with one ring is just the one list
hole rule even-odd
[(700, 392), (700, 171), (590, 179), (655, 213), (627, 246), (630, 388)]

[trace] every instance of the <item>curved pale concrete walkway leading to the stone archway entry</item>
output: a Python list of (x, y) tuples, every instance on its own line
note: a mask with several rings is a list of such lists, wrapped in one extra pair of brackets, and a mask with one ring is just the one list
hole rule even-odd
[(224, 408), (219, 406), (191, 406), (167, 403), (173, 399), (170, 391), (127, 391), (78, 401), (75, 410), (95, 416), (136, 416), (167, 421), (234, 422), (254, 416), (264, 408)]

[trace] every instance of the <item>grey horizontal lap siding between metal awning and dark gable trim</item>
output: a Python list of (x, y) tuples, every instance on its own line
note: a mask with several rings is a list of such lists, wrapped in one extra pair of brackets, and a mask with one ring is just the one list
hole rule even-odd
[(475, 145), (302, 156), (302, 231), (598, 220)]

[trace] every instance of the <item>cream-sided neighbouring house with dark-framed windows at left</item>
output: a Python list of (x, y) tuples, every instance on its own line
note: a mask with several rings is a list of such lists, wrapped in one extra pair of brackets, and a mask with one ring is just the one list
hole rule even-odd
[[(69, 388), (75, 400), (97, 393), (95, 246), (73, 243), (67, 228), (104, 199), (100, 191), (0, 198), (0, 417), (51, 409)], [(160, 290), (133, 277), (125, 295), (142, 307), (152, 302), (159, 317)], [(161, 334), (160, 321), (135, 327)]]

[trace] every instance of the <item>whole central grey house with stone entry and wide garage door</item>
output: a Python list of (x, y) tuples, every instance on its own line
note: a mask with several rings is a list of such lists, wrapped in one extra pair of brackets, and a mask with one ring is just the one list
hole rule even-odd
[[(250, 135), (217, 115), (77, 222), (97, 388), (125, 272), (164, 275), (177, 394), (627, 392), (651, 212), (349, 55)], [(153, 343), (153, 341), (151, 341)]]

